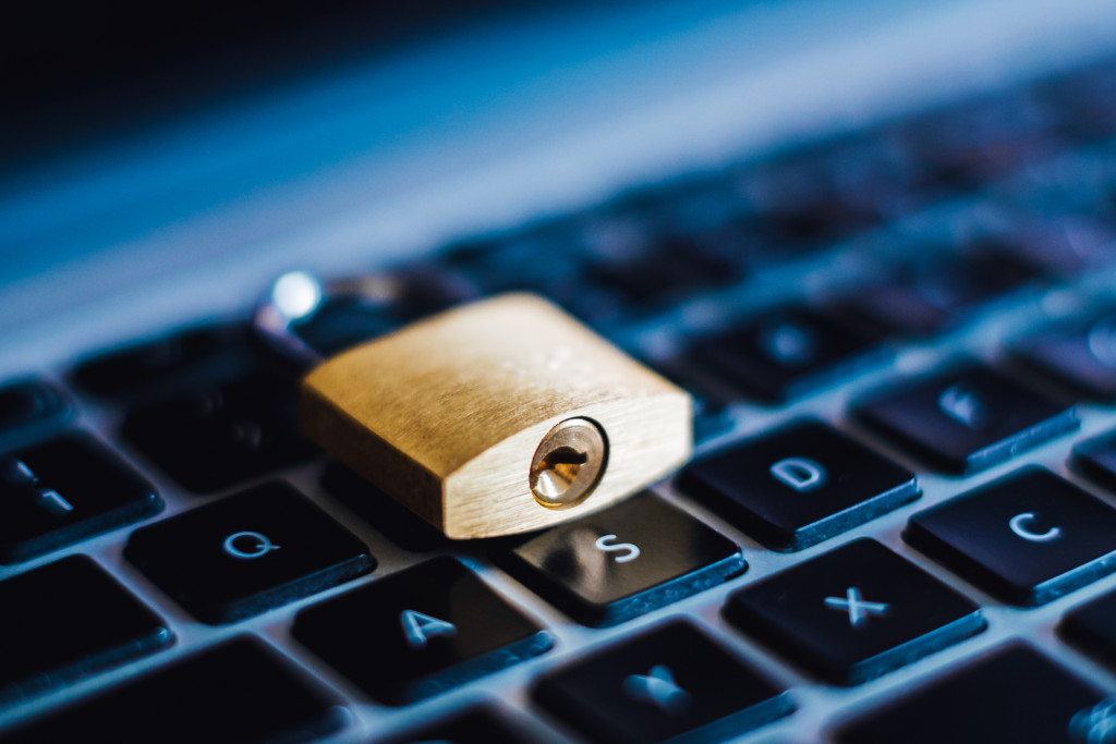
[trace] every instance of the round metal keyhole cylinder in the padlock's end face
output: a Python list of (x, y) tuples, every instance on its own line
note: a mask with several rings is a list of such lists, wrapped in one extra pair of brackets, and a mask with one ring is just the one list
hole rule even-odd
[(568, 418), (542, 437), (531, 462), (530, 485), (543, 506), (561, 509), (580, 503), (605, 468), (607, 445), (588, 418)]

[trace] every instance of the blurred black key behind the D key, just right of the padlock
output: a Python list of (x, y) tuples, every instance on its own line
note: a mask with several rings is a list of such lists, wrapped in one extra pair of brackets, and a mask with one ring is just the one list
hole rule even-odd
[(690, 356), (745, 395), (779, 402), (879, 365), (887, 351), (852, 326), (791, 308), (699, 341)]

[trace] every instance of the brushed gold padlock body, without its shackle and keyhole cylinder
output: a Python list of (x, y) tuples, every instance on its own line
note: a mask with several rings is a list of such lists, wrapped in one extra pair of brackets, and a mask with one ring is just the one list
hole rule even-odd
[[(690, 395), (550, 302), (506, 294), (349, 349), (302, 381), (305, 434), (452, 539), (537, 530), (600, 509), (679, 467)], [(556, 425), (586, 418), (607, 461), (564, 509), (529, 483)]]

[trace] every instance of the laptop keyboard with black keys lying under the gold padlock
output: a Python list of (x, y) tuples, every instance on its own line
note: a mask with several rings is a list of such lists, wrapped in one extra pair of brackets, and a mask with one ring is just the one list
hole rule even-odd
[(328, 355), (533, 291), (693, 393), (693, 463), (546, 532), (453, 543), (326, 462), (244, 318), (28, 370), (0, 743), (1116, 742), (1114, 288), (1106, 61), (450, 245), (295, 328)]

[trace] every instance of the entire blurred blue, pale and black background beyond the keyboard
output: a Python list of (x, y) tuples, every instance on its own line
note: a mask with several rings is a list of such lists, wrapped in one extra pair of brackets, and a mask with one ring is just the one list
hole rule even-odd
[(1090, 0), (21, 3), (0, 23), (0, 341), (21, 357), (0, 368), (118, 337), (122, 307), (144, 308), (125, 336), (240, 310), (287, 269), (1065, 68), (1112, 20)]

